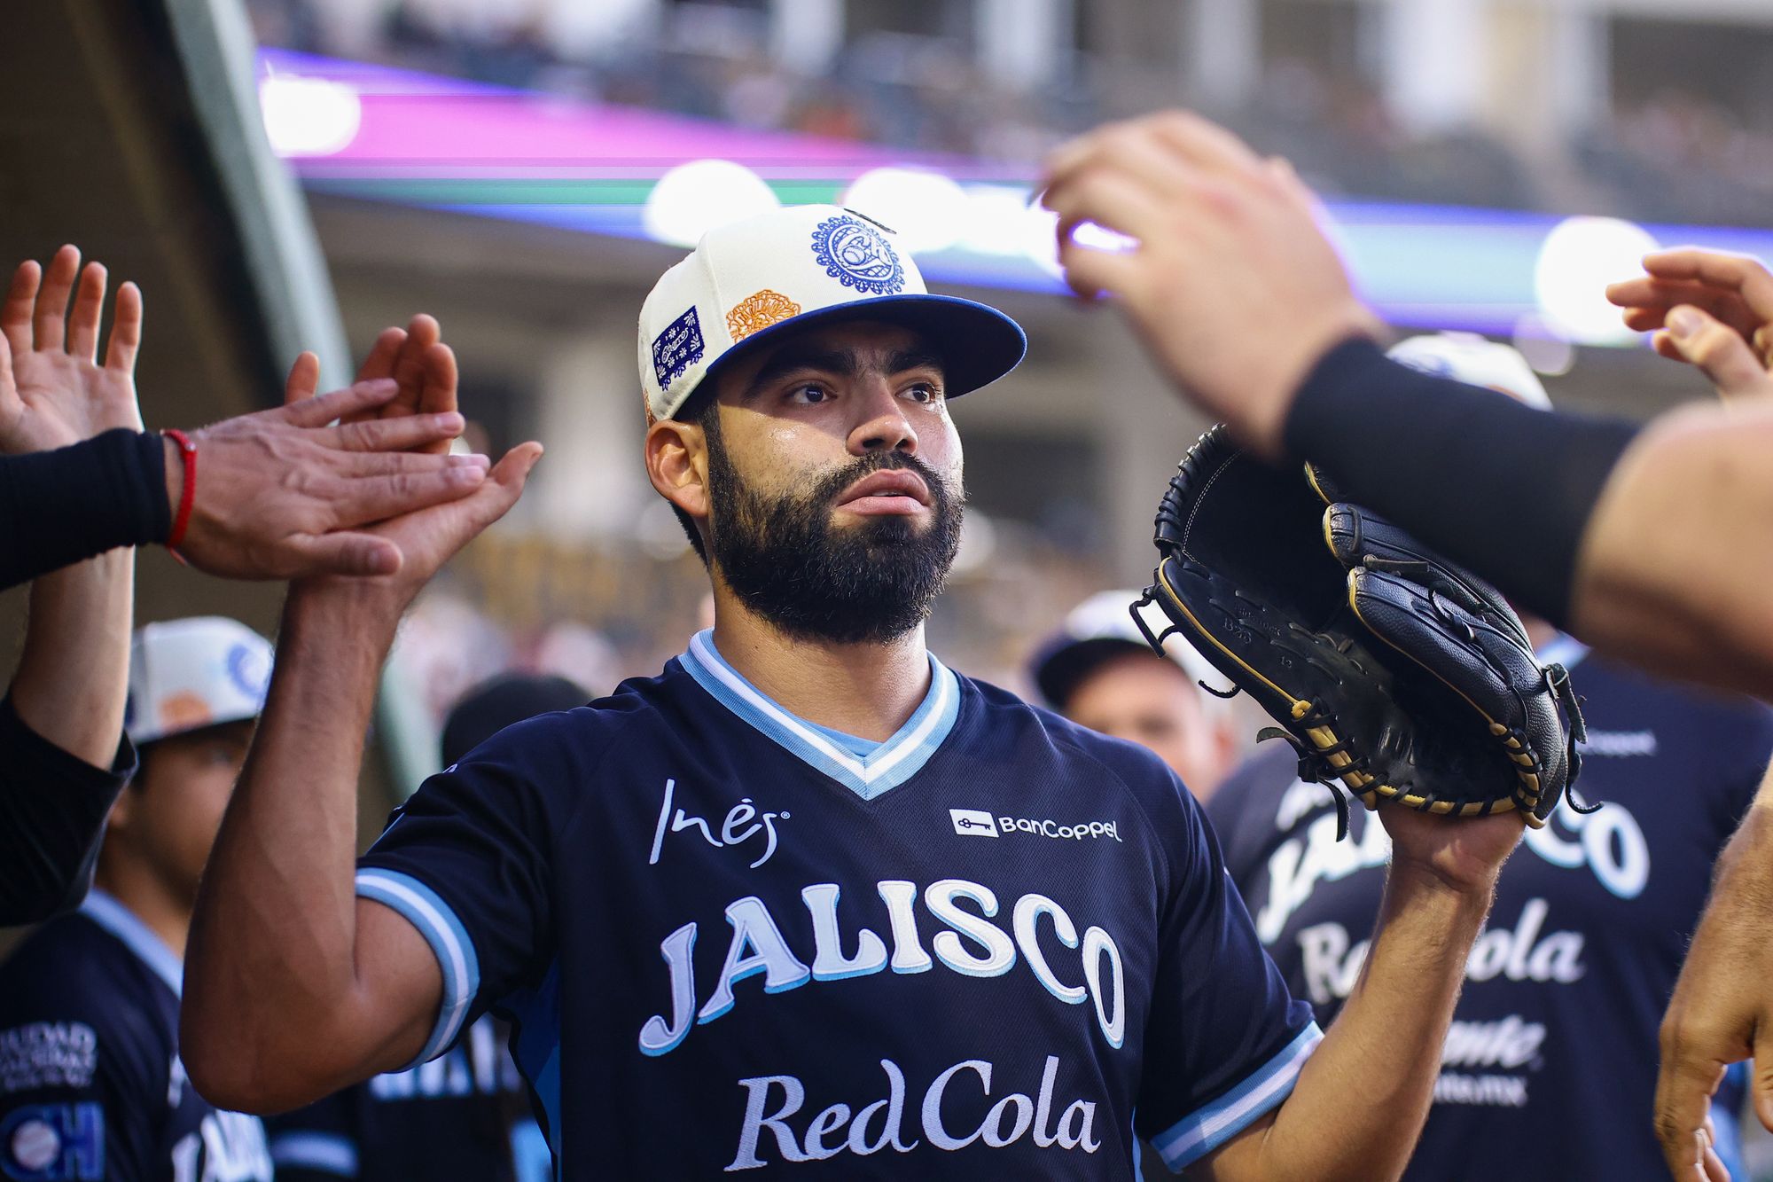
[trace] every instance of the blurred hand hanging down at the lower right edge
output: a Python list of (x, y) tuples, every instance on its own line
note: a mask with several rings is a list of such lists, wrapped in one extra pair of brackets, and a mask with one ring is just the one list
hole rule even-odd
[(1755, 1116), (1773, 1131), (1773, 809), (1748, 809), (1718, 866), (1661, 1024), (1656, 1136), (1677, 1182), (1729, 1182), (1706, 1122), (1730, 1063), (1755, 1060)]

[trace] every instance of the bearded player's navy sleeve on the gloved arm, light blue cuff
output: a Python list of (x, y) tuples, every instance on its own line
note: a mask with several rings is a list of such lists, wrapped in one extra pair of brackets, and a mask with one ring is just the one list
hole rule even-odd
[(1184, 795), (1167, 829), (1136, 1131), (1181, 1171), (1280, 1106), (1323, 1033), (1257, 939), (1200, 806)]

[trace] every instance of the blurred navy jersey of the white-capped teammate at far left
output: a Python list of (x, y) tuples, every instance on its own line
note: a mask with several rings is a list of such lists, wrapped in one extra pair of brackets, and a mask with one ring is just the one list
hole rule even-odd
[(0, 965), (0, 1177), (269, 1182), (259, 1118), (184, 1079), (181, 983), (172, 950), (103, 891)]

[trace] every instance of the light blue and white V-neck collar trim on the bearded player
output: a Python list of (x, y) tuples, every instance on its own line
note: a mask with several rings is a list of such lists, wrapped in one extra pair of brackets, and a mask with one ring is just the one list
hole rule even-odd
[(715, 701), (863, 800), (872, 800), (917, 776), (954, 729), (954, 719), (961, 712), (959, 678), (931, 655), (929, 692), (924, 694), (924, 701), (892, 738), (872, 754), (858, 756), (844, 751), (840, 744), (821, 735), (819, 726), (789, 713), (739, 676), (738, 669), (715, 651), (713, 630), (697, 632), (679, 660)]

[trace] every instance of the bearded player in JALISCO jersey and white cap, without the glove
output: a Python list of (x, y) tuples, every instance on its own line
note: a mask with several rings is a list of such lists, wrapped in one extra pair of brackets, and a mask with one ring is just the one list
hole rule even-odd
[(1321, 1036), (1156, 756), (924, 646), (947, 399), (1019, 328), (828, 206), (711, 231), (640, 328), (647, 472), (715, 626), (433, 777), (353, 900), (381, 655), (534, 451), (385, 525), (395, 577), (296, 584), (191, 941), (204, 1091), (298, 1104), (493, 1010), (566, 1178), (1128, 1178), (1138, 1138), (1222, 1180), (1395, 1175), (1521, 822), (1381, 813), (1385, 916)]

